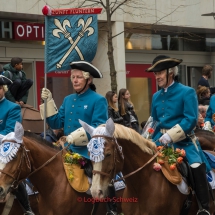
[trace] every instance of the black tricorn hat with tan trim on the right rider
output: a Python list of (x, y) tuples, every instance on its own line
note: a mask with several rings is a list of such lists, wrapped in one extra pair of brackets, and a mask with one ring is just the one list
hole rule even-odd
[(183, 60), (171, 58), (166, 55), (158, 55), (152, 62), (151, 67), (146, 69), (146, 72), (160, 72), (179, 65)]

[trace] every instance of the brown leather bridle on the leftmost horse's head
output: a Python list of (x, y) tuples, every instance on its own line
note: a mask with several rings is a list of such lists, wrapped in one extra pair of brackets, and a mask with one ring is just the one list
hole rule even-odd
[[(10, 141), (10, 142), (14, 142), (14, 141)], [(14, 142), (14, 143), (16, 143), (16, 142)], [(19, 143), (16, 143), (16, 144), (19, 144)], [(23, 144), (20, 144), (20, 147), (22, 149), (22, 155), (21, 155), (19, 165), (18, 165), (18, 168), (17, 168), (15, 174), (12, 175), (12, 174), (0, 169), (1, 173), (11, 177), (14, 180), (12, 182), (10, 188), (8, 189), (8, 192), (10, 192), (12, 189), (17, 189), (19, 183), (25, 179), (25, 178), (20, 179), (20, 175), (21, 175), (23, 164), (24, 164), (24, 160), (26, 161), (26, 166), (29, 169), (29, 172), (31, 172), (31, 162), (29, 160), (28, 153), (27, 153), (28, 150), (25, 148), (25, 146)], [(24, 159), (24, 158), (26, 158), (26, 159)]]

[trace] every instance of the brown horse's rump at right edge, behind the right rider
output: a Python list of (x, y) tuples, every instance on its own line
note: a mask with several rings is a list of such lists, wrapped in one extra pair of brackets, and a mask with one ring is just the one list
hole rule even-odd
[(196, 129), (195, 135), (199, 139), (199, 143), (203, 150), (215, 150), (215, 135), (211, 131)]

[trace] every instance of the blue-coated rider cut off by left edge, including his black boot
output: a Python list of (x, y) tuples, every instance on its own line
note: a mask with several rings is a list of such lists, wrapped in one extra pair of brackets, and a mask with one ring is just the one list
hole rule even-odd
[[(0, 143), (5, 135), (14, 131), (16, 121), (21, 122), (22, 120), (20, 106), (5, 98), (7, 85), (10, 83), (10, 79), (0, 75)], [(23, 182), (19, 184), (18, 188), (14, 190), (13, 193), (22, 205), (24, 213), (26, 215), (34, 215)]]

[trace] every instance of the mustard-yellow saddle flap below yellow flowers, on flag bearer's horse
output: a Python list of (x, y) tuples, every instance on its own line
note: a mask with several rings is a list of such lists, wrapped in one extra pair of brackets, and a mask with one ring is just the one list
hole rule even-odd
[(90, 188), (90, 184), (84, 169), (81, 169), (80, 164), (65, 163), (65, 154), (66, 152), (62, 155), (62, 162), (69, 184), (77, 192), (86, 192)]

